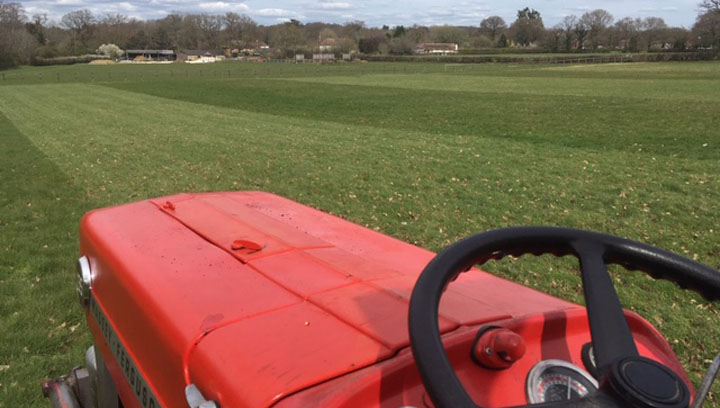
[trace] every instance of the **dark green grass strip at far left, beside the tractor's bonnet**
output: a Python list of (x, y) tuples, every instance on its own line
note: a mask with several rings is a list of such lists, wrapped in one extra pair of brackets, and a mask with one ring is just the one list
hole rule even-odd
[(93, 207), (0, 111), (0, 406), (42, 406), (40, 382), (88, 345), (75, 231)]

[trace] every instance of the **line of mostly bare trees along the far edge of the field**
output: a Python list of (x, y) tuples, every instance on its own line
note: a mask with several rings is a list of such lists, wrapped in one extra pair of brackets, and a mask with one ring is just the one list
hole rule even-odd
[[(28, 16), (22, 5), (0, 1), (0, 68), (54, 58), (96, 53), (102, 44), (122, 49), (238, 49), (264, 43), (271, 57), (317, 51), (321, 43), (333, 51), (366, 54), (412, 54), (420, 43), (456, 43), (461, 49), (524, 47), (548, 52), (624, 50), (642, 52), (671, 49), (720, 49), (720, 0), (704, 0), (691, 29), (668, 26), (662, 18), (625, 17), (619, 20), (597, 9), (566, 16), (546, 27), (539, 11), (524, 8), (507, 23), (490, 16), (477, 26), (367, 27), (362, 21), (345, 24), (290, 20), (263, 26), (233, 12), (172, 13), (157, 20), (138, 20), (122, 14), (94, 15), (71, 11), (59, 22), (44, 14)], [(329, 42), (328, 42), (329, 41)]]

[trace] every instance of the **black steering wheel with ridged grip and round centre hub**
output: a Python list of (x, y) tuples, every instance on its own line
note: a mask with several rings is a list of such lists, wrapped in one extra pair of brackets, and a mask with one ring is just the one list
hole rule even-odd
[(438, 328), (440, 297), (448, 283), (473, 265), (507, 255), (574, 255), (580, 260), (590, 334), (598, 372), (607, 381), (582, 399), (548, 407), (684, 408), (690, 393), (670, 368), (638, 355), (607, 264), (641, 270), (676, 282), (709, 300), (720, 298), (720, 272), (639, 242), (570, 228), (514, 227), (465, 238), (439, 253), (423, 270), (410, 299), (412, 353), (438, 408), (477, 408), (445, 354)]

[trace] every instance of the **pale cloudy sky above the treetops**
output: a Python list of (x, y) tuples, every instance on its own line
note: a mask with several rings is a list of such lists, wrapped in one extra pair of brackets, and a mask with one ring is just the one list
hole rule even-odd
[(322, 21), (339, 24), (360, 20), (368, 27), (413, 24), (478, 26), (482, 19), (492, 15), (499, 15), (510, 24), (515, 20), (517, 10), (531, 7), (540, 12), (546, 27), (552, 27), (567, 15), (580, 16), (586, 11), (602, 8), (609, 11), (616, 21), (623, 17), (653, 16), (665, 19), (671, 26), (690, 28), (699, 12), (699, 1), (28, 0), (20, 3), (28, 16), (44, 13), (55, 22), (67, 12), (87, 8), (99, 16), (120, 13), (142, 20), (162, 18), (172, 12), (224, 14), (232, 11), (246, 14), (263, 25), (297, 19), (303, 23)]

